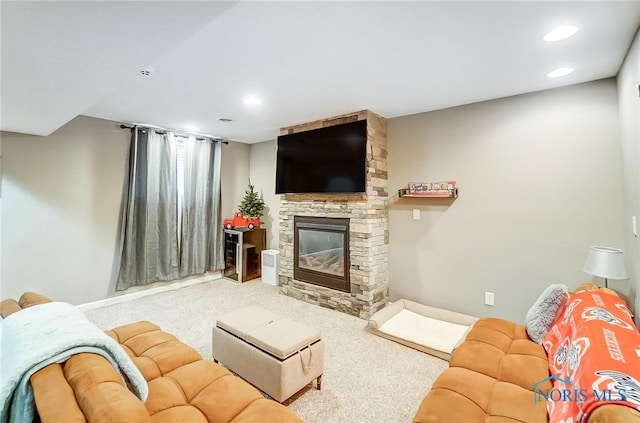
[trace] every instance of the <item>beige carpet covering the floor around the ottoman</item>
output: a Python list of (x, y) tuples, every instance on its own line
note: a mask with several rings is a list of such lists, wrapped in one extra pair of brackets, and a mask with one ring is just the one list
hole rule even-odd
[(447, 362), (367, 332), (365, 320), (304, 303), (260, 280), (219, 279), (126, 303), (87, 310), (102, 329), (149, 320), (211, 359), (218, 316), (259, 305), (312, 325), (326, 343), (322, 390), (308, 388), (288, 404), (309, 423), (410, 422)]

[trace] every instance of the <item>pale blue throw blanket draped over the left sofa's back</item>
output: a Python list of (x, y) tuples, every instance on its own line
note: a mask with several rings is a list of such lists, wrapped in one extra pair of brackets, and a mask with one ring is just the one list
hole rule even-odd
[(51, 302), (0, 321), (0, 421), (32, 422), (31, 375), (84, 352), (105, 357), (129, 389), (140, 400), (147, 399), (147, 382), (122, 347), (71, 304)]

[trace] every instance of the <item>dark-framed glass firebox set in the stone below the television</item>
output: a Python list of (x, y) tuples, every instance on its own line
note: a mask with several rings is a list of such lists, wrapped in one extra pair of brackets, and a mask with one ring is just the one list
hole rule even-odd
[(294, 216), (293, 278), (349, 292), (349, 219)]

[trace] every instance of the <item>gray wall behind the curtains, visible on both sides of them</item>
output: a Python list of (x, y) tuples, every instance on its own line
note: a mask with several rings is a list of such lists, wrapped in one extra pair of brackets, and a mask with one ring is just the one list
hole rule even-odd
[[(129, 132), (77, 117), (47, 137), (2, 133), (2, 298), (37, 291), (80, 304), (114, 295)], [(222, 210), (249, 178), (249, 146), (223, 145)]]

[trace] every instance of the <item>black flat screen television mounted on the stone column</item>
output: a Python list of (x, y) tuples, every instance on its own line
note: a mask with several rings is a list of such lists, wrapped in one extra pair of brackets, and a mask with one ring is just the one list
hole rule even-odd
[(278, 137), (276, 194), (366, 191), (367, 121)]

